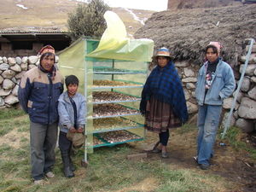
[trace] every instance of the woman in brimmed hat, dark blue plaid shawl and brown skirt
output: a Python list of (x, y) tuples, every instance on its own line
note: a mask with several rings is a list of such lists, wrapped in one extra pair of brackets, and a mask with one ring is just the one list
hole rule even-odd
[(167, 158), (169, 129), (186, 122), (188, 112), (183, 86), (169, 49), (158, 49), (154, 59), (157, 66), (143, 87), (140, 110), (145, 117), (145, 129), (159, 134), (160, 141), (155, 144), (153, 152)]

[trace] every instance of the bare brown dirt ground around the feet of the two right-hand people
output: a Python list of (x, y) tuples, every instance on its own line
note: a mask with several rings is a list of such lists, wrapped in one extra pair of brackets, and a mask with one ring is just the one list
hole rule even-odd
[[(140, 152), (146, 151), (149, 159), (161, 159), (160, 154), (150, 152), (157, 141), (157, 134), (148, 132), (147, 139), (143, 143), (131, 145)], [(208, 172), (224, 177), (234, 183), (231, 191), (256, 191), (256, 162), (250, 159), (246, 152), (238, 152), (229, 144), (220, 146), (219, 143), (221, 141), (217, 139), (210, 170), (201, 171), (193, 159), (196, 154), (196, 130), (183, 134), (178, 133), (177, 130), (172, 130), (167, 146), (169, 158), (162, 160), (167, 164), (175, 164), (177, 168), (195, 169), (198, 172)]]

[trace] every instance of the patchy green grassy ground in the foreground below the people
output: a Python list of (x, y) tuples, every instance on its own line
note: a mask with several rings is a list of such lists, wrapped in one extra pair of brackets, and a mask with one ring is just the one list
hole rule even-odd
[[(18, 109), (1, 110), (0, 125), (0, 191), (232, 191), (232, 183), (210, 172), (177, 166), (159, 157), (127, 160), (128, 154), (138, 152), (128, 144), (97, 148), (90, 154), (87, 168), (80, 166), (84, 155), (80, 150), (73, 157), (75, 177), (69, 179), (63, 177), (61, 155), (56, 148), (56, 177), (48, 179), (44, 186), (35, 186), (30, 176), (27, 115)], [(183, 130), (194, 131), (189, 127)]]

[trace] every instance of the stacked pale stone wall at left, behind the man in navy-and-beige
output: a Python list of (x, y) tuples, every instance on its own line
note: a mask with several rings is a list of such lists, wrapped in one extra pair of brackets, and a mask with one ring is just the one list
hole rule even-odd
[[(58, 57), (56, 56), (56, 62)], [(33, 67), (39, 64), (37, 55), (24, 57), (5, 57), (0, 56), (0, 110), (9, 108), (18, 103), (18, 88), (20, 79)]]

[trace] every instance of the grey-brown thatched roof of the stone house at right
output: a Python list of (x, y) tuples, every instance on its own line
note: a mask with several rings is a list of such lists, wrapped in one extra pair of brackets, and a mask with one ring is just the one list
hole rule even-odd
[(256, 39), (256, 4), (158, 12), (135, 38), (151, 38), (155, 49), (166, 46), (175, 60), (195, 63), (203, 61), (203, 50), (210, 41), (219, 41), (224, 46), (224, 61), (233, 66), (245, 38)]

